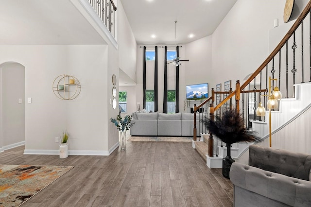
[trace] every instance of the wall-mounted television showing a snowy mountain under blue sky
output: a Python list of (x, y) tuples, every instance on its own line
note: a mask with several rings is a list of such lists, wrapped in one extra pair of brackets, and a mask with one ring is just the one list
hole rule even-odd
[(186, 86), (186, 99), (207, 99), (208, 84), (194, 84)]

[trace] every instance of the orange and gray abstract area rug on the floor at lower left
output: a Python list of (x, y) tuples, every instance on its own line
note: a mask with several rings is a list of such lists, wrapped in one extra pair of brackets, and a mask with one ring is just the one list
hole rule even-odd
[(0, 206), (19, 206), (72, 168), (0, 165)]

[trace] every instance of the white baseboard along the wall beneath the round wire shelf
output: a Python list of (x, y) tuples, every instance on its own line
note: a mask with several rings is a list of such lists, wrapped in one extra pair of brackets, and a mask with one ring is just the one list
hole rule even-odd
[[(69, 150), (69, 155), (110, 155), (119, 147), (120, 143), (117, 142), (108, 151), (107, 150)], [(59, 155), (59, 150), (24, 150), (24, 155)]]

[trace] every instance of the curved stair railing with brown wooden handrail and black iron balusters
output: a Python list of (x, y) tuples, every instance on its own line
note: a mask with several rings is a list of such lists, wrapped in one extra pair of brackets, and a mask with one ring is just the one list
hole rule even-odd
[[(260, 103), (267, 107), (268, 92), (278, 86), (283, 98), (295, 97), (294, 85), (311, 82), (311, 1), (294, 22), (293, 26), (270, 53), (256, 71), (242, 85), (237, 81), (236, 88), (231, 92), (215, 92), (212, 89), (211, 103), (204, 102), (194, 106), (194, 112), (199, 108), (209, 106), (208, 119), (222, 116), (226, 110), (236, 108), (245, 120), (245, 127), (252, 128), (253, 121), (265, 121), (256, 115)], [(307, 17), (309, 15), (309, 17)], [(306, 18), (307, 17), (307, 18)], [(271, 80), (270, 80), (271, 77)], [(216, 97), (222, 97), (217, 99)], [(269, 94), (270, 95), (270, 94)], [(196, 122), (194, 121), (194, 128)], [(193, 134), (196, 140), (196, 134)], [(217, 140), (216, 140), (217, 141)], [(218, 155), (214, 148), (213, 135), (208, 140), (208, 155)], [(217, 148), (217, 145), (216, 145)]]

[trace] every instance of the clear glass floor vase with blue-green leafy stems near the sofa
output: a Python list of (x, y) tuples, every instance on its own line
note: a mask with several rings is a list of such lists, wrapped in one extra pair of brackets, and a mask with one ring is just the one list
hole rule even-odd
[(117, 126), (117, 129), (121, 133), (121, 151), (126, 149), (126, 131), (129, 130), (134, 123), (132, 123), (132, 116), (126, 115), (124, 119), (121, 117), (121, 110), (119, 110), (119, 115), (117, 119), (110, 118), (110, 121)]

